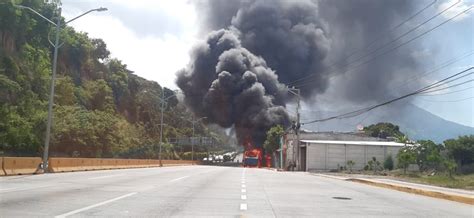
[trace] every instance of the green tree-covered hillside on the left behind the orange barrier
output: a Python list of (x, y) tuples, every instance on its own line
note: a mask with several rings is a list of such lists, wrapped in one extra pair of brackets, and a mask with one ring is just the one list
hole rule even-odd
[[(55, 6), (21, 1), (48, 18)], [(46, 129), (54, 29), (37, 15), (0, 4), (0, 154), (40, 156)], [(105, 42), (71, 27), (61, 33), (54, 96), (53, 156), (157, 158), (160, 97), (173, 92), (111, 58)], [(124, 42), (125, 43), (125, 42)], [(158, 70), (158, 68), (157, 68)], [(163, 73), (163, 72), (160, 72)], [(170, 72), (166, 72), (170, 73)], [(164, 111), (163, 141), (190, 137), (182, 117), (190, 113), (176, 97)], [(223, 133), (196, 125), (196, 136), (222, 143)], [(199, 148), (197, 148), (199, 150)], [(190, 147), (164, 146), (164, 157), (181, 158)]]

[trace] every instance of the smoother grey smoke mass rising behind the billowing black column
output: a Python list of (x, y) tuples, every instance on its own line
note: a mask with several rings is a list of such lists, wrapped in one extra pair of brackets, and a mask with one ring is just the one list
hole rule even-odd
[(327, 87), (324, 58), (330, 49), (325, 27), (313, 1), (208, 1), (200, 2), (206, 30), (230, 28), (242, 46), (262, 56), (287, 84), (314, 75), (302, 87), (310, 97)]

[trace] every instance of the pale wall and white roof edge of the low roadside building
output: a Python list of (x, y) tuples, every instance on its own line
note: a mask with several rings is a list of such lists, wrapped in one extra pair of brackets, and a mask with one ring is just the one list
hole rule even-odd
[(372, 157), (383, 163), (390, 155), (396, 164), (398, 150), (403, 146), (388, 141), (301, 140), (301, 169), (336, 170), (352, 160), (352, 169), (361, 170)]

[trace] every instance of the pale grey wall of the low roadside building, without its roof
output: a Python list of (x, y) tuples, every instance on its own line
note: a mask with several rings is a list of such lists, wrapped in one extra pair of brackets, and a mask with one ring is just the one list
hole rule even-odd
[(353, 170), (362, 170), (372, 157), (382, 164), (388, 155), (392, 155), (393, 160), (396, 161), (396, 154), (400, 148), (374, 145), (307, 144), (306, 170), (336, 170), (338, 167), (346, 166), (349, 160), (355, 162)]

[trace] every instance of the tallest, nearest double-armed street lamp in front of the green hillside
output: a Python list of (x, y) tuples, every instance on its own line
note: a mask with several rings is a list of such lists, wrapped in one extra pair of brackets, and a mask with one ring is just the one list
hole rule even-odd
[(61, 24), (61, 7), (58, 8), (58, 18), (57, 18), (57, 21), (56, 23), (54, 23), (53, 21), (51, 21), (50, 19), (46, 18), (45, 16), (43, 16), (42, 14), (40, 14), (39, 12), (35, 11), (34, 9), (30, 8), (30, 7), (27, 7), (27, 6), (23, 6), (23, 5), (14, 5), (15, 7), (19, 8), (19, 9), (25, 9), (25, 10), (29, 10), (31, 12), (33, 12), (34, 14), (38, 15), (39, 17), (43, 18), (44, 20), (46, 20), (47, 22), (49, 22), (50, 24), (52, 24), (53, 26), (56, 27), (56, 38), (55, 38), (55, 41), (54, 43), (52, 43), (51, 41), (49, 41), (49, 43), (54, 47), (54, 54), (53, 54), (53, 69), (52, 69), (52, 75), (51, 75), (51, 86), (50, 86), (50, 93), (49, 93), (49, 101), (48, 101), (48, 123), (46, 125), (46, 136), (45, 136), (45, 140), (44, 140), (44, 151), (43, 151), (43, 170), (44, 172), (46, 172), (48, 170), (48, 152), (49, 152), (49, 140), (50, 140), (50, 134), (51, 134), (51, 125), (52, 125), (52, 120), (53, 120), (53, 104), (54, 104), (54, 82), (56, 80), (56, 66), (57, 66), (57, 61), (58, 61), (58, 49), (63, 45), (63, 43), (59, 44), (59, 32), (61, 31), (61, 28), (63, 27), (63, 25), (67, 25), (68, 23), (71, 23), (72, 21), (88, 14), (88, 13), (91, 13), (93, 11), (97, 11), (97, 12), (101, 12), (101, 11), (106, 11), (107, 8), (96, 8), (96, 9), (92, 9), (92, 10), (89, 10), (75, 18), (72, 18), (71, 20), (69, 21), (66, 21), (64, 24)]

